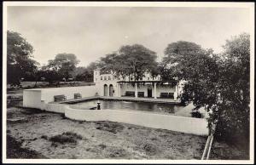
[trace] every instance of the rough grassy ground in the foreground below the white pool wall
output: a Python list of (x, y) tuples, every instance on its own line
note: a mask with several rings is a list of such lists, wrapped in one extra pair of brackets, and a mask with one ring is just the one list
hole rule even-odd
[[(19, 94), (19, 92), (17, 92)], [(79, 122), (61, 114), (7, 109), (8, 158), (201, 159), (207, 137), (119, 122)], [(213, 143), (212, 159), (241, 159), (244, 154)]]

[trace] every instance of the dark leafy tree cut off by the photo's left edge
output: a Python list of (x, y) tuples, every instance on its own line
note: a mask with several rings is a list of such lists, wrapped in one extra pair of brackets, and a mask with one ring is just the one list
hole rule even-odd
[(38, 69), (32, 60), (33, 48), (20, 33), (7, 31), (7, 83), (20, 85), (21, 77), (31, 77)]

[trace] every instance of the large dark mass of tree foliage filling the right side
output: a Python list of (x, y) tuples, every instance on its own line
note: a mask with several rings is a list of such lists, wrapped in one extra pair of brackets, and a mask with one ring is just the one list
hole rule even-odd
[(188, 83), (183, 100), (210, 113), (209, 128), (217, 125), (216, 137), (229, 142), (249, 139), (250, 40), (241, 34), (227, 40), (223, 54), (212, 49), (183, 55), (177, 60), (179, 77)]

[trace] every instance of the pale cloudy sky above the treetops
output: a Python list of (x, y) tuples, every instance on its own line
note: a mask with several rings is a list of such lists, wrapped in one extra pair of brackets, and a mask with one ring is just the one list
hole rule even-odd
[(220, 53), (226, 39), (250, 31), (250, 22), (242, 8), (9, 6), (7, 29), (32, 44), (41, 65), (71, 53), (86, 66), (135, 43), (156, 52), (158, 60), (177, 41)]

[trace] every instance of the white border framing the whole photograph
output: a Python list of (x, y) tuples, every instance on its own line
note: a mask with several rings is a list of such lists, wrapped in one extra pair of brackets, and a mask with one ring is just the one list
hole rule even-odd
[[(6, 59), (7, 59), (7, 7), (9, 6), (87, 6), (87, 7), (200, 7), (246, 8), (251, 20), (251, 77), (250, 77), (250, 160), (114, 160), (114, 159), (7, 159), (6, 158)], [(172, 2), (3, 2), (3, 163), (254, 163), (254, 3), (172, 3)]]

